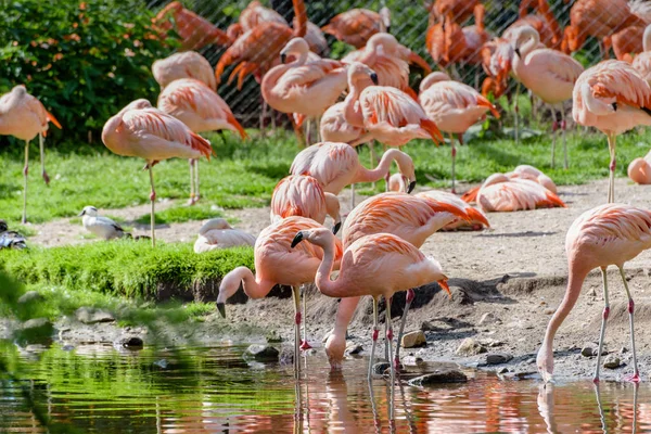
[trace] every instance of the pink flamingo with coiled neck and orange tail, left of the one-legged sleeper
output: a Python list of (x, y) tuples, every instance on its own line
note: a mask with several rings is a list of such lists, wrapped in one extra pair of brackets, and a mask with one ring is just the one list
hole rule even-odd
[(412, 139), (443, 140), (441, 131), (423, 108), (407, 93), (378, 84), (378, 74), (359, 62), (348, 66), (349, 93), (345, 99), (346, 122), (366, 128), (375, 140), (390, 146), (403, 146)]

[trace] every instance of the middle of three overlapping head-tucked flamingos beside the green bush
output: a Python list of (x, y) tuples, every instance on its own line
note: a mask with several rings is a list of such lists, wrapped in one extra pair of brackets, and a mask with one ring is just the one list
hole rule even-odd
[[(158, 95), (158, 108), (197, 133), (229, 129), (238, 132), (242, 140), (247, 137), (226, 101), (193, 78), (180, 78), (163, 89)], [(199, 199), (199, 162), (190, 159), (190, 204)]]

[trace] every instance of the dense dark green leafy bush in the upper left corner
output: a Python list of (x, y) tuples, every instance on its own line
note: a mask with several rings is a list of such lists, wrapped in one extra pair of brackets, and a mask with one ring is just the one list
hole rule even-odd
[(0, 0), (0, 93), (25, 84), (63, 125), (56, 138), (99, 137), (124, 105), (156, 98), (151, 65), (176, 39), (157, 40), (152, 16), (142, 0)]

